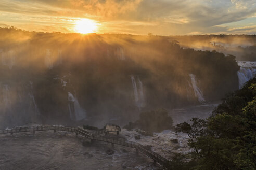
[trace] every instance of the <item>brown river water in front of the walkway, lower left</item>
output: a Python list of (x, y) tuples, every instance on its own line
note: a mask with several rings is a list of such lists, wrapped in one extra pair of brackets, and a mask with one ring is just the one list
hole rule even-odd
[[(0, 138), (0, 169), (162, 169), (153, 166), (152, 159), (144, 154), (136, 155), (135, 149), (95, 141), (88, 141), (69, 132), (17, 133)], [(106, 151), (112, 149), (114, 154)]]

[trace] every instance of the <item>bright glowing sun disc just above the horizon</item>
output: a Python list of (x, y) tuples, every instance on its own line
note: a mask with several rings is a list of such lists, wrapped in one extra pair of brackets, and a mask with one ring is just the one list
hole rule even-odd
[(97, 30), (97, 24), (90, 19), (80, 19), (75, 22), (75, 31), (81, 34), (94, 33)]

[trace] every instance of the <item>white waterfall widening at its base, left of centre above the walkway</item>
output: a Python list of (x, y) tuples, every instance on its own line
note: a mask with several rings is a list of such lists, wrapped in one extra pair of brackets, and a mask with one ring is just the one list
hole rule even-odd
[(85, 110), (80, 106), (78, 99), (73, 96), (72, 93), (68, 92), (69, 101), (69, 114), (70, 119), (79, 121), (86, 118)]

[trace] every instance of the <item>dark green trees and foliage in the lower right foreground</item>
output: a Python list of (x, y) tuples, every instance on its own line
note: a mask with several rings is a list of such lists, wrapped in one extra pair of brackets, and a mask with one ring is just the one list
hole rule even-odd
[(208, 120), (191, 119), (176, 126), (195, 150), (193, 169), (256, 168), (256, 78), (228, 95)]

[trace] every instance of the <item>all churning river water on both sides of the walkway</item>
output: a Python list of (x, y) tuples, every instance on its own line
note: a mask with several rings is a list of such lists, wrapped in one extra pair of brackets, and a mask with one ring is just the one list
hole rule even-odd
[[(216, 105), (174, 109), (169, 115), (174, 118), (175, 125), (192, 117), (206, 118)], [(184, 133), (164, 130), (153, 133), (153, 136), (142, 135), (139, 140), (135, 140), (135, 135), (141, 134), (137, 130), (122, 129), (120, 132), (121, 138), (145, 146), (151, 145), (151, 150), (168, 159), (171, 159), (173, 153), (187, 154), (193, 151), (187, 146), (189, 137)], [(177, 139), (177, 143), (173, 143), (172, 139)], [(158, 165), (153, 166), (152, 159), (146, 155), (136, 155), (132, 148), (119, 145), (111, 148), (109, 143), (100, 141), (95, 141), (91, 146), (83, 146), (81, 143), (84, 140), (75, 137), (74, 133), (61, 131), (17, 133), (15, 137), (3, 135), (0, 138), (0, 146), (3, 146), (0, 147), (0, 169), (162, 169)], [(108, 149), (112, 149), (114, 154), (106, 154)]]

